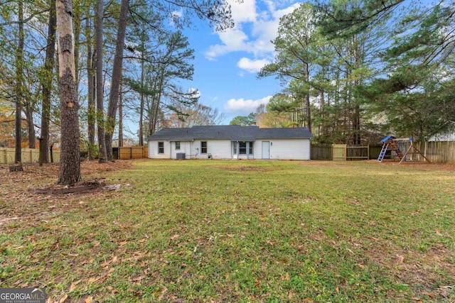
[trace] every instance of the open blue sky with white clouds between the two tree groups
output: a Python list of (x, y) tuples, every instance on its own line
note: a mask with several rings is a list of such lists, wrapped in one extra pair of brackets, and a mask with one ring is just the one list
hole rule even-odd
[(257, 72), (274, 57), (279, 18), (299, 4), (294, 0), (243, 0), (232, 6), (235, 27), (217, 33), (206, 22), (186, 29), (195, 50), (193, 81), (186, 89), (200, 92), (200, 104), (225, 114), (223, 124), (235, 116), (247, 116), (282, 89), (274, 77), (257, 79)]

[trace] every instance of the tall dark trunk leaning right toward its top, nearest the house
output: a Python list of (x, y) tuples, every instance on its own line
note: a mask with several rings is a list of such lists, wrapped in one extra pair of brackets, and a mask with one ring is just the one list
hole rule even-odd
[(115, 44), (114, 65), (112, 67), (112, 87), (107, 106), (106, 155), (108, 160), (112, 160), (112, 136), (115, 128), (115, 116), (117, 116), (117, 108), (119, 106), (119, 88), (122, 82), (123, 48), (125, 33), (127, 31), (128, 9), (129, 0), (122, 0), (120, 4), (117, 43)]

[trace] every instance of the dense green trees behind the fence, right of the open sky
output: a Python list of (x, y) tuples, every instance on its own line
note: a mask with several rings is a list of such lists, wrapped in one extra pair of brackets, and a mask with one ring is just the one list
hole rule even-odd
[(306, 126), (319, 143), (425, 141), (455, 121), (455, 5), (404, 0), (303, 3), (281, 18), (258, 77), (283, 91), (231, 123)]

